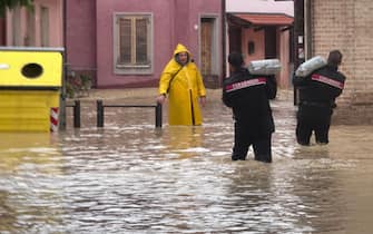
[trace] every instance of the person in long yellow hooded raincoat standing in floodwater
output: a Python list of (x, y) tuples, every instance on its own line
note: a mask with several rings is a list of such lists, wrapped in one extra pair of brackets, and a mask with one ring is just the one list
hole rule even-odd
[(205, 106), (206, 89), (190, 52), (180, 43), (160, 75), (157, 101), (164, 104), (167, 95), (169, 125), (202, 125), (198, 99)]

